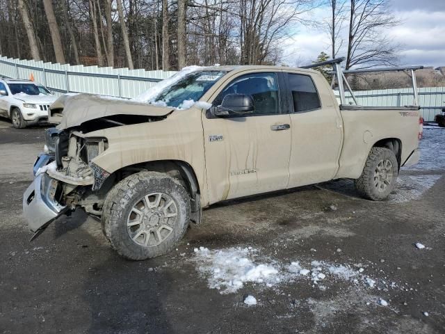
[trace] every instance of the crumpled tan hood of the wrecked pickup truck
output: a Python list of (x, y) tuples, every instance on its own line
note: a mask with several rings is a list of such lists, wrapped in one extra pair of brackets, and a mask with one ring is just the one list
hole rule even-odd
[(58, 129), (76, 127), (88, 120), (113, 115), (166, 116), (174, 108), (152, 106), (134, 100), (124, 100), (100, 95), (63, 95), (51, 104), (49, 122), (60, 123)]

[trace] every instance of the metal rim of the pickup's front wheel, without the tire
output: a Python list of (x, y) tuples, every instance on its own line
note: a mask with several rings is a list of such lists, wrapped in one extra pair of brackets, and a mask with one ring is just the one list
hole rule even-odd
[(138, 245), (158, 246), (172, 234), (177, 218), (177, 205), (168, 194), (149, 193), (131, 208), (127, 232)]

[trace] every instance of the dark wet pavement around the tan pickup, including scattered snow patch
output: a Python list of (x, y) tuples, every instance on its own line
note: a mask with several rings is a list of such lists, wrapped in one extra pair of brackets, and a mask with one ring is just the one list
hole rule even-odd
[(29, 242), (43, 131), (0, 120), (0, 333), (445, 332), (444, 129), (427, 127), (388, 201), (348, 180), (232, 200), (143, 262), (81, 211)]

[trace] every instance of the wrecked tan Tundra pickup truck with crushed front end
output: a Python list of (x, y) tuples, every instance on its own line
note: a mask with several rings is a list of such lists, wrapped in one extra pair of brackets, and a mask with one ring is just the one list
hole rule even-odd
[(102, 217), (120, 255), (144, 260), (167, 253), (213, 203), (339, 178), (383, 200), (419, 159), (418, 106), (339, 106), (314, 70), (201, 67), (145, 97), (51, 105), (59, 125), (23, 198), (34, 237), (81, 207)]

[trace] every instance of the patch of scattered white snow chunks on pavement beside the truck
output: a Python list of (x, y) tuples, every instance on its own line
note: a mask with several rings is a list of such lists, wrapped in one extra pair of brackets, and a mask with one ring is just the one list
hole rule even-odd
[(224, 248), (209, 250), (195, 248), (197, 271), (207, 279), (209, 288), (221, 294), (234, 293), (246, 284), (258, 288), (275, 287), (280, 284), (302, 281), (314, 288), (325, 290), (330, 284), (342, 281), (357, 289), (401, 289), (407, 285), (371, 277), (363, 264), (339, 264), (325, 261), (298, 260), (286, 264), (261, 256), (259, 250), (248, 248)]

